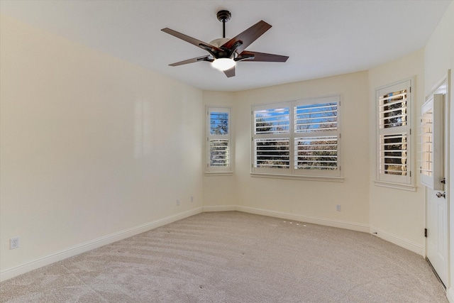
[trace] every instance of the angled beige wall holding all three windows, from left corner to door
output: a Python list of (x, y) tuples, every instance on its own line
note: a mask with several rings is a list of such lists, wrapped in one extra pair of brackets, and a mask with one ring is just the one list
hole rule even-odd
[[(373, 182), (376, 173), (375, 88), (416, 76), (412, 116), (414, 129), (417, 129), (416, 119), (424, 99), (423, 62), (424, 52), (419, 50), (368, 72), (233, 93), (235, 172), (222, 179), (205, 177), (205, 206), (235, 204), (240, 210), (263, 210), (255, 211), (261, 214), (359, 230), (371, 228), (377, 236), (423, 255), (424, 192), (419, 186), (419, 174), (414, 172), (417, 187), (414, 192), (378, 187)], [(343, 102), (341, 165), (344, 182), (251, 177), (251, 106), (331, 94), (341, 94)], [(204, 93), (206, 104), (215, 100), (216, 104), (232, 104), (231, 93)], [(414, 167), (418, 161), (416, 142), (417, 132), (413, 140)], [(232, 203), (235, 198), (236, 203)], [(341, 212), (336, 211), (336, 204), (342, 204)], [(367, 228), (362, 228), (364, 226)]]

